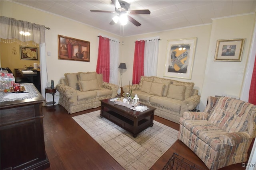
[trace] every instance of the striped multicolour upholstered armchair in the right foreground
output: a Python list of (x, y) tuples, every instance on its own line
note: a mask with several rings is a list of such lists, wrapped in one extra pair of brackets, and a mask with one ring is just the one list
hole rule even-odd
[(207, 99), (203, 112), (180, 118), (178, 139), (211, 170), (246, 162), (256, 136), (256, 106), (229, 97)]

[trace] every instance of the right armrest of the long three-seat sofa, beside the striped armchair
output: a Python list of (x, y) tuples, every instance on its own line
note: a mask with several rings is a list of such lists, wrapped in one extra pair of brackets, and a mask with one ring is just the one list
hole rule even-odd
[(193, 95), (183, 100), (180, 108), (180, 116), (182, 116), (185, 111), (190, 111), (196, 108), (196, 106), (200, 103), (200, 97), (201, 96), (199, 95)]

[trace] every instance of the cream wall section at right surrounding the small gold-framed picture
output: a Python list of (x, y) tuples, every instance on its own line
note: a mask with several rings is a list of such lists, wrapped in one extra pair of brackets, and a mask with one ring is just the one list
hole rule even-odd
[[(207, 96), (241, 97), (254, 25), (254, 14), (213, 20), (200, 109), (205, 108), (206, 100), (203, 99)], [(242, 61), (214, 61), (217, 40), (236, 38), (245, 38)]]

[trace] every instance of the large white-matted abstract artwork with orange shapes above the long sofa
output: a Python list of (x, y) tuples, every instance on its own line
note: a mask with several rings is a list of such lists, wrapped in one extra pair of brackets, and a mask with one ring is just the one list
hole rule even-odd
[(164, 76), (191, 79), (197, 38), (167, 41)]

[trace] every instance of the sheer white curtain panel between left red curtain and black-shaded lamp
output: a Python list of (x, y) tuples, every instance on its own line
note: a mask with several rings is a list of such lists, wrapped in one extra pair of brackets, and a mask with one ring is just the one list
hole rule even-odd
[(110, 38), (109, 82), (112, 84), (118, 84), (119, 44), (118, 39)]

